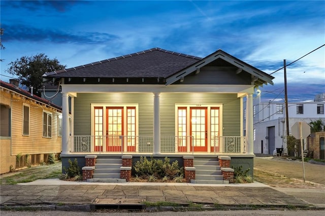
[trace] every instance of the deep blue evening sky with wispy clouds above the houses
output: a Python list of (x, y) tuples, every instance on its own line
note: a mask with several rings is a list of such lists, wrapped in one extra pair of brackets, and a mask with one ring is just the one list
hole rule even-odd
[[(268, 74), (325, 44), (325, 1), (1, 1), (1, 80), (8, 64), (45, 53), (67, 68), (159, 47), (218, 49)], [(284, 98), (283, 69), (262, 100)], [(289, 101), (325, 93), (325, 46), (287, 67)]]

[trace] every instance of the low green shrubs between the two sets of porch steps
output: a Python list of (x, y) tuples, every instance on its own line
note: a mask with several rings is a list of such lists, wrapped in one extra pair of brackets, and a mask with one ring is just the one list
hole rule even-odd
[(178, 165), (178, 161), (170, 163), (165, 157), (164, 161), (146, 157), (140, 157), (133, 167), (134, 182), (184, 182), (184, 169)]

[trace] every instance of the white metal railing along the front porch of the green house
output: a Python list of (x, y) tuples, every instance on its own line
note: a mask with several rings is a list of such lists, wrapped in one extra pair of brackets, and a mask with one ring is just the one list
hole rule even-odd
[[(90, 136), (74, 135), (69, 137), (72, 153), (149, 153), (154, 146), (153, 136)], [(196, 138), (193, 136), (160, 136), (161, 153), (194, 153)], [(215, 136), (210, 141), (207, 154), (245, 153), (244, 136)]]

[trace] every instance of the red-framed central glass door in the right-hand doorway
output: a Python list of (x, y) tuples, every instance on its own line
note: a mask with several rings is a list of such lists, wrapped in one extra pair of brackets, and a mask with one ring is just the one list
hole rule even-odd
[[(207, 107), (190, 107), (190, 134), (192, 135), (190, 151), (207, 152), (208, 124)], [(192, 149), (193, 148), (193, 149)]]

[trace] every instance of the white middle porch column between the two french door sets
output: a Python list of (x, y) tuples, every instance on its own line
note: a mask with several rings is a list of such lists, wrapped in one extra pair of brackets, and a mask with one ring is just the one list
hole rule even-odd
[(153, 154), (160, 154), (160, 92), (153, 94)]

